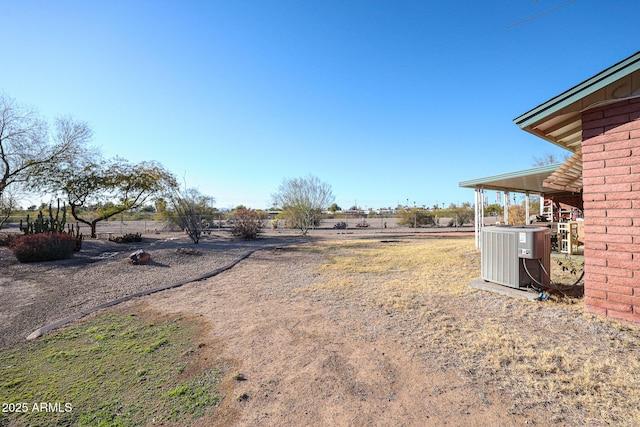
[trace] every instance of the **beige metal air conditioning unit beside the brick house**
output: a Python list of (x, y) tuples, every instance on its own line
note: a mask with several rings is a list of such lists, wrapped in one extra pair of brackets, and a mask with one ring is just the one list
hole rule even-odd
[(512, 288), (549, 285), (551, 230), (548, 228), (484, 227), (481, 251), (483, 280)]

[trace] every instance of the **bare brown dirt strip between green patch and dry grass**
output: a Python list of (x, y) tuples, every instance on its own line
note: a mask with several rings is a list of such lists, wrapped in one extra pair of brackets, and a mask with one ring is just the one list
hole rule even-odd
[(494, 390), (418, 355), (380, 311), (300, 292), (320, 262), (258, 252), (215, 278), (129, 303), (199, 316), (210, 326), (203, 343), (246, 377), (227, 379), (222, 406), (198, 425), (525, 424)]

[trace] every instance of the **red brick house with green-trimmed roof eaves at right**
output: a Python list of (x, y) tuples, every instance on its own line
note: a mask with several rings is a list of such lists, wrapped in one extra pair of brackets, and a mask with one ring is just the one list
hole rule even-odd
[(514, 122), (574, 152), (547, 185), (582, 189), (585, 310), (640, 323), (640, 52)]

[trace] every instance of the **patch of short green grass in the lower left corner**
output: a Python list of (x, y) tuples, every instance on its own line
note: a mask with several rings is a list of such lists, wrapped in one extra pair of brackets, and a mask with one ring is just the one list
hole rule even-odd
[[(186, 422), (220, 400), (218, 373), (186, 375), (197, 325), (110, 314), (0, 352), (0, 426)], [(48, 410), (40, 402), (51, 403)], [(58, 405), (56, 405), (58, 403)], [(26, 404), (23, 405), (23, 404)]]

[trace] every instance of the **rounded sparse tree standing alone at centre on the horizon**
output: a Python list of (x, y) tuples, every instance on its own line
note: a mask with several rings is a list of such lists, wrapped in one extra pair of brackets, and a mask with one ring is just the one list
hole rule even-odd
[(319, 223), (322, 210), (334, 201), (331, 186), (312, 175), (284, 179), (272, 198), (293, 228), (299, 228), (303, 235)]

